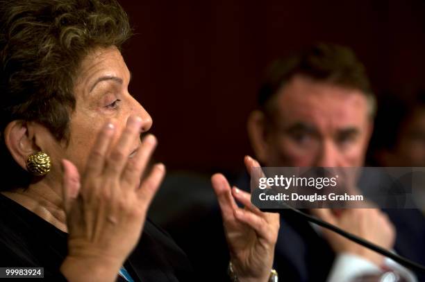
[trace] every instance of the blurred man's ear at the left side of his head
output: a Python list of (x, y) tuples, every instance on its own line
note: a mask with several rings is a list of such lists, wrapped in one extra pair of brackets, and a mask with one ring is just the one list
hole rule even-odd
[(256, 158), (260, 164), (267, 164), (267, 124), (266, 116), (260, 110), (255, 110), (249, 114), (248, 123), (248, 136), (251, 141)]

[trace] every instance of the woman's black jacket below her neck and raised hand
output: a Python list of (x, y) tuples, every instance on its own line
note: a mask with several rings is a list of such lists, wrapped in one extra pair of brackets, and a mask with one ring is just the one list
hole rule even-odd
[[(44, 267), (42, 281), (66, 281), (59, 268), (67, 256), (67, 233), (1, 194), (0, 232), (0, 267)], [(194, 280), (184, 252), (150, 220), (124, 267), (134, 281)]]

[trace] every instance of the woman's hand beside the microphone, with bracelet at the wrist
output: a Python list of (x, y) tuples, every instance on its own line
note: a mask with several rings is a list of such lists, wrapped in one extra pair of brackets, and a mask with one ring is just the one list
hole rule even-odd
[[(244, 159), (247, 170), (259, 167), (251, 157)], [(268, 281), (278, 236), (278, 213), (263, 213), (251, 204), (251, 195), (231, 188), (223, 175), (211, 178), (222, 210), (224, 231), (231, 252), (233, 270), (239, 281)], [(235, 199), (244, 205), (240, 209)]]

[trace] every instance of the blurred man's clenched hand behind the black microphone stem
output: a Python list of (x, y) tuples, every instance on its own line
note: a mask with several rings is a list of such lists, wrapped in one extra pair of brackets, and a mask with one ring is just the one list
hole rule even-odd
[[(312, 209), (318, 218), (359, 236), (385, 249), (394, 245), (395, 231), (387, 215), (379, 209), (345, 209), (335, 215), (331, 209)], [(326, 240), (336, 253), (351, 253), (362, 256), (381, 266), (383, 256), (362, 247), (328, 229), (322, 229)]]

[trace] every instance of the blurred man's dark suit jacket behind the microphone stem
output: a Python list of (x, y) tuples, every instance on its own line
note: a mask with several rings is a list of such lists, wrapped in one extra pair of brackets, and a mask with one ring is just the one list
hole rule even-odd
[[(249, 176), (236, 182), (249, 191)], [(395, 251), (425, 265), (425, 218), (417, 209), (385, 210), (396, 227)], [(274, 263), (284, 281), (326, 281), (335, 253), (313, 227), (290, 211), (281, 210), (281, 229), (278, 233)], [(423, 274), (415, 273), (419, 281)]]

